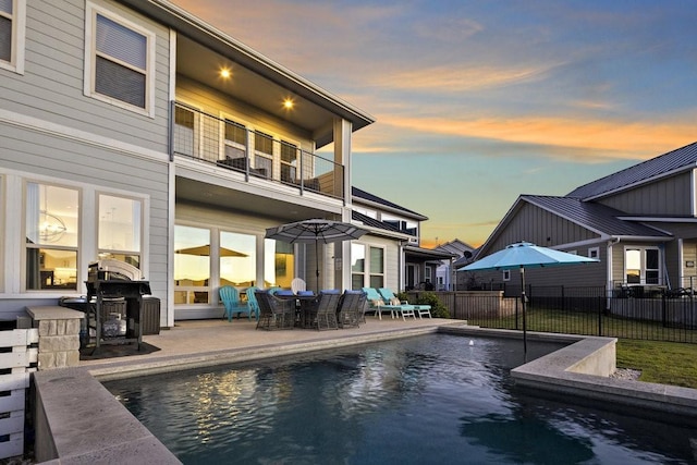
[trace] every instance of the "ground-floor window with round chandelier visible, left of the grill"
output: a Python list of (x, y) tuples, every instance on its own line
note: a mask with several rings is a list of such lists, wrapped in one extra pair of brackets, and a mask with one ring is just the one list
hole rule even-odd
[(25, 199), (26, 290), (77, 290), (78, 191), (28, 182)]

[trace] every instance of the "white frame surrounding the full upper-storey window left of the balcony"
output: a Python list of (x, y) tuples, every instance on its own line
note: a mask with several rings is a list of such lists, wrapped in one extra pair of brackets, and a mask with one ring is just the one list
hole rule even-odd
[[(145, 108), (131, 105), (118, 98), (113, 98), (107, 95), (99, 94), (95, 90), (96, 87), (96, 65), (97, 65), (97, 50), (95, 44), (96, 27), (97, 27), (97, 14), (105, 16), (114, 23), (127, 27), (147, 39), (146, 46), (146, 66), (145, 70)], [(127, 20), (120, 14), (114, 13), (111, 10), (98, 7), (93, 2), (87, 2), (85, 14), (85, 73), (84, 73), (84, 94), (87, 97), (95, 98), (97, 100), (111, 103), (115, 107), (120, 107), (136, 113), (145, 114), (149, 118), (155, 118), (155, 33), (134, 21)], [(123, 64), (119, 62), (119, 64)]]

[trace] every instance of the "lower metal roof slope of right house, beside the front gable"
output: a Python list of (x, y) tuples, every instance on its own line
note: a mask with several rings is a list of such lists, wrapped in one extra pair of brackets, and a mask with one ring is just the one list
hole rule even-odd
[(522, 195), (522, 200), (548, 210), (568, 221), (608, 236), (670, 237), (646, 224), (625, 221), (626, 213), (615, 208), (574, 197)]

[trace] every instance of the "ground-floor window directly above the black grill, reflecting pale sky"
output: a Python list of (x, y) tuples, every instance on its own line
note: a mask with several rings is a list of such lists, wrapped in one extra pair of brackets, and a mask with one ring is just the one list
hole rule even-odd
[(140, 268), (142, 201), (99, 195), (98, 247), (101, 258)]

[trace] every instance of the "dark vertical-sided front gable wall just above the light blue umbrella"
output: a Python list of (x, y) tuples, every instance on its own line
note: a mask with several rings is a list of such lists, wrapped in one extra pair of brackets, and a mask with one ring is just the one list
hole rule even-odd
[[(600, 236), (574, 222), (528, 203), (523, 203), (518, 212), (487, 248), (487, 254), (505, 248), (516, 242), (531, 242), (545, 247), (598, 240)], [(481, 258), (481, 257), (479, 257)]]

